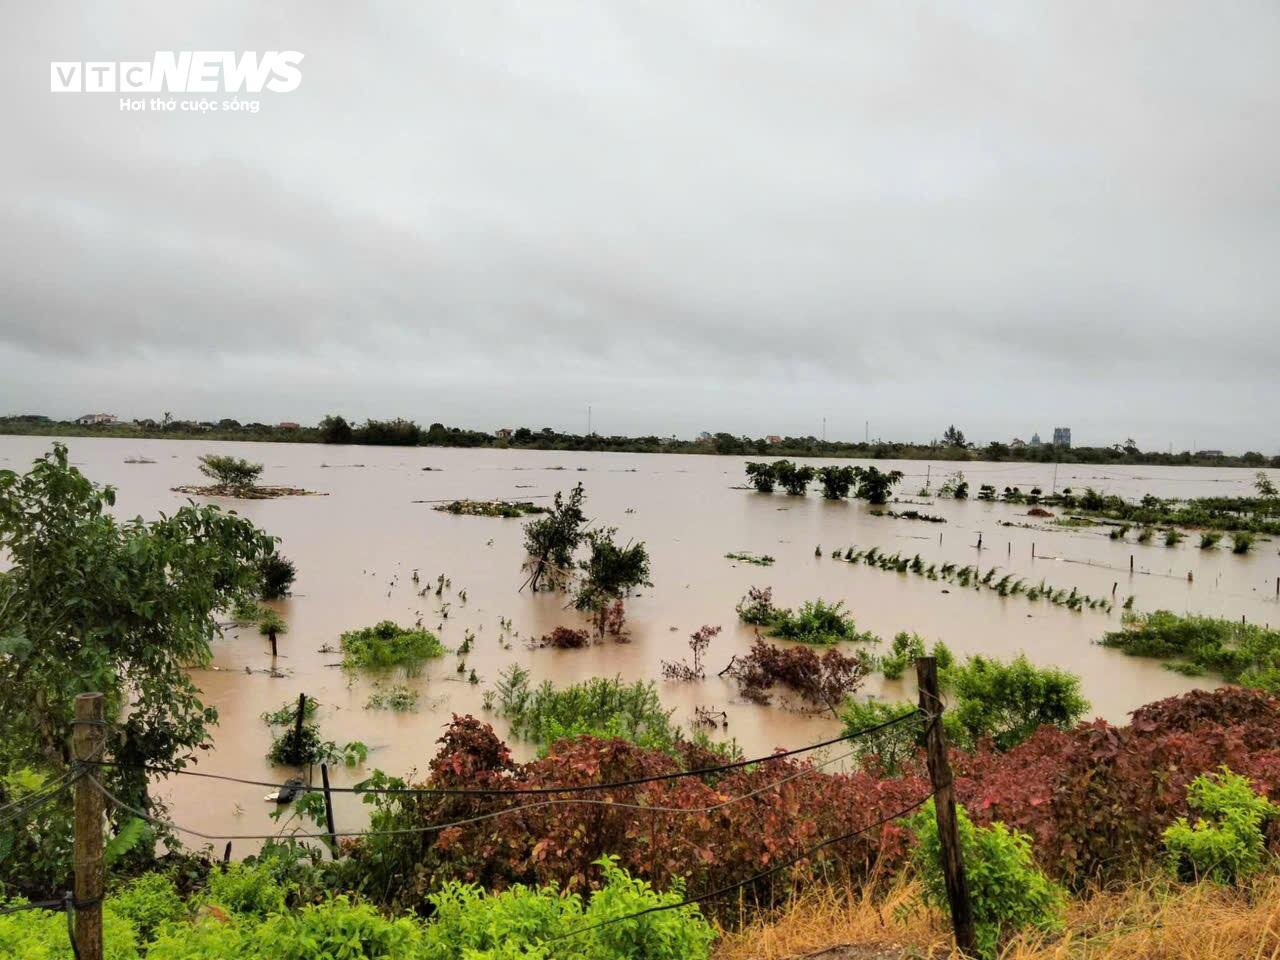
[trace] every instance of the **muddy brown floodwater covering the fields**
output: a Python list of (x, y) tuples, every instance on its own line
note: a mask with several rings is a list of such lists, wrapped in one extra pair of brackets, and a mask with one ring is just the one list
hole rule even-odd
[[(0, 438), (0, 466), (23, 470), (51, 443), (47, 438)], [(1027, 516), (1027, 507), (977, 500), (934, 499), (916, 507), (945, 516), (947, 524), (892, 520), (872, 516), (865, 503), (826, 502), (817, 492), (796, 498), (735, 489), (744, 483), (746, 458), (739, 457), (90, 438), (65, 443), (72, 461), (87, 476), (118, 488), (115, 509), (123, 516), (152, 517), (180, 506), (186, 498), (170, 488), (197, 483), (196, 460), (210, 452), (265, 463), (266, 484), (329, 494), (221, 502), (279, 536), (280, 550), (298, 568), (293, 596), (274, 604), (289, 625), (288, 635), (280, 637), (278, 660), (284, 677), (246, 673), (246, 668), (261, 671), (271, 662), (256, 630), (229, 631), (215, 645), (214, 668), (195, 672), (206, 700), (220, 714), (215, 746), (201, 756), (198, 769), (251, 780), (288, 776), (265, 759), (270, 732), (260, 714), (302, 691), (323, 704), (319, 721), (326, 739), (361, 740), (370, 748), (366, 765), (334, 772), (337, 785), (353, 783), (374, 767), (393, 774), (422, 771), (451, 714), (485, 716), (481, 696), (512, 662), (527, 667), (535, 681), (567, 684), (613, 675), (628, 681), (657, 680), (663, 701), (676, 709), (676, 719), (687, 722), (696, 705), (722, 708), (728, 713), (727, 733), (750, 753), (831, 735), (837, 726), (832, 718), (739, 701), (732, 686), (714, 676), (733, 653), (750, 644), (751, 631), (737, 623), (733, 605), (753, 585), (772, 586), (774, 602), (782, 605), (818, 596), (844, 600), (859, 628), (886, 640), (899, 630), (910, 630), (945, 640), (961, 654), (1007, 657), (1025, 652), (1037, 663), (1079, 673), (1093, 712), (1108, 721), (1124, 722), (1128, 710), (1156, 698), (1212, 685), (1212, 680), (1181, 677), (1158, 663), (1097, 646), (1093, 641), (1119, 625), (1119, 603), (1116, 612), (1107, 614), (1073, 612), (1023, 596), (1001, 598), (988, 590), (964, 590), (814, 557), (819, 544), (824, 554), (856, 544), (919, 553), (925, 562), (980, 562), (983, 568), (998, 564), (1002, 571), (1036, 581), (1043, 577), (1055, 586), (1076, 586), (1094, 596), (1110, 595), (1116, 585), (1119, 600), (1132, 593), (1139, 611), (1167, 608), (1245, 616), (1260, 623), (1280, 621), (1275, 599), (1280, 562), (1274, 540), (1261, 540), (1244, 557), (1221, 548), (1201, 550), (1197, 538), (1175, 548), (1158, 538), (1149, 545), (1116, 543), (1105, 531), (1088, 529), (1005, 527), (1001, 521), (1034, 518)], [(155, 462), (125, 463), (127, 458)], [(878, 466), (902, 470), (906, 480), (900, 497), (920, 499), (915, 492), (927, 470), (936, 488), (956, 465), (906, 461)], [(1053, 465), (963, 466), (974, 494), (983, 483), (1023, 490), (1037, 485), (1048, 490), (1053, 483)], [(1057, 467), (1059, 488), (1080, 490), (1088, 485), (1125, 497), (1236, 495), (1249, 493), (1252, 480), (1252, 471), (1230, 468)], [(562, 623), (577, 625), (580, 618), (564, 609), (562, 596), (518, 591), (524, 580), (521, 521), (451, 516), (413, 500), (544, 502), (579, 481), (595, 522), (617, 526), (623, 539), (648, 544), (654, 588), (627, 604), (630, 644), (530, 650), (525, 637)], [(975, 548), (979, 534), (980, 553)], [(1032, 558), (1033, 543), (1038, 559)], [(768, 553), (777, 562), (755, 567), (724, 559), (724, 553), (737, 550)], [(1130, 554), (1135, 564), (1132, 576)], [(447, 620), (442, 621), (434, 596), (417, 595), (411, 581), (415, 570), (422, 585), (440, 573), (452, 580)], [(1188, 572), (1194, 573), (1192, 582)], [(457, 598), (460, 590), (467, 593), (465, 604)], [(320, 648), (335, 646), (344, 630), (385, 618), (408, 625), (419, 616), (433, 630), (443, 622), (439, 634), (451, 648), (462, 641), (465, 631), (475, 632), (467, 664), (481, 682), (465, 682), (456, 673), (457, 658), (449, 654), (404, 681), (421, 692), (417, 712), (365, 709), (372, 681), (334, 668), (338, 657)], [(521, 637), (511, 650), (500, 649), (497, 640), (503, 617)], [(689, 634), (703, 623), (723, 627), (708, 654), (710, 678), (700, 684), (662, 681), (659, 660), (686, 655)], [(861, 692), (914, 696), (909, 685), (878, 677)], [(500, 719), (489, 719), (499, 735), (507, 735)], [(527, 749), (512, 746), (529, 755)], [(189, 777), (156, 786), (182, 824), (209, 833), (261, 833), (275, 827), (261, 787)], [(365, 808), (351, 796), (338, 799), (337, 819), (339, 829), (358, 829), (367, 822)], [(253, 846), (237, 844), (236, 852), (247, 854)]]

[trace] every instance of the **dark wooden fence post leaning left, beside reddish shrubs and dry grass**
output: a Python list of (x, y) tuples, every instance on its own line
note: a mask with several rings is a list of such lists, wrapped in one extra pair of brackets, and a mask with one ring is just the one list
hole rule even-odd
[(978, 955), (978, 940), (973, 924), (973, 905), (964, 877), (964, 859), (960, 855), (960, 829), (956, 822), (956, 801), (951, 782), (951, 764), (947, 762), (947, 741), (942, 730), (942, 698), (938, 694), (938, 664), (932, 657), (915, 662), (916, 685), (920, 690), (920, 710), (924, 713), (924, 745), (933, 782), (933, 808), (938, 820), (938, 841), (942, 846), (942, 874), (951, 906), (951, 925), (955, 928), (956, 946), (968, 956)]

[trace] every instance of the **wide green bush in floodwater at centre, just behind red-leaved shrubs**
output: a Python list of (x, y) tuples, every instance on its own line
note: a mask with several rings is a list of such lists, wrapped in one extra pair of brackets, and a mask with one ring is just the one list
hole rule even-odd
[(668, 751), (680, 739), (673, 710), (662, 705), (653, 681), (593, 677), (557, 689), (544, 680), (534, 687), (529, 671), (513, 664), (498, 680), (498, 712), (515, 736), (536, 742), (543, 754), (557, 740), (577, 736), (621, 737)]

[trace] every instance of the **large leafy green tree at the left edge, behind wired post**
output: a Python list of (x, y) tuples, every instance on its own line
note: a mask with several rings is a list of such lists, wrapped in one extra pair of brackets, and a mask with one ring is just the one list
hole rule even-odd
[[(122, 765), (97, 776), (151, 806), (137, 764), (180, 768), (207, 746), (218, 713), (187, 668), (209, 662), (214, 613), (257, 595), (274, 541), (212, 506), (120, 521), (114, 503), (63, 444), (27, 474), (0, 471), (0, 553), (12, 562), (0, 573), (0, 765), (67, 771), (74, 698), (100, 691)], [(0, 883), (60, 890), (68, 867), (0, 855)]]

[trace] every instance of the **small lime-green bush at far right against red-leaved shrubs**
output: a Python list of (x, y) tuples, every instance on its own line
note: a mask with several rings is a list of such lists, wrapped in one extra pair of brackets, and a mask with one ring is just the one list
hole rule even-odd
[(1236, 883), (1263, 868), (1263, 828), (1280, 817), (1280, 805), (1254, 792), (1247, 777), (1226, 767), (1199, 776), (1187, 788), (1187, 804), (1199, 814), (1194, 826), (1179, 817), (1165, 831), (1169, 868), (1180, 879)]

